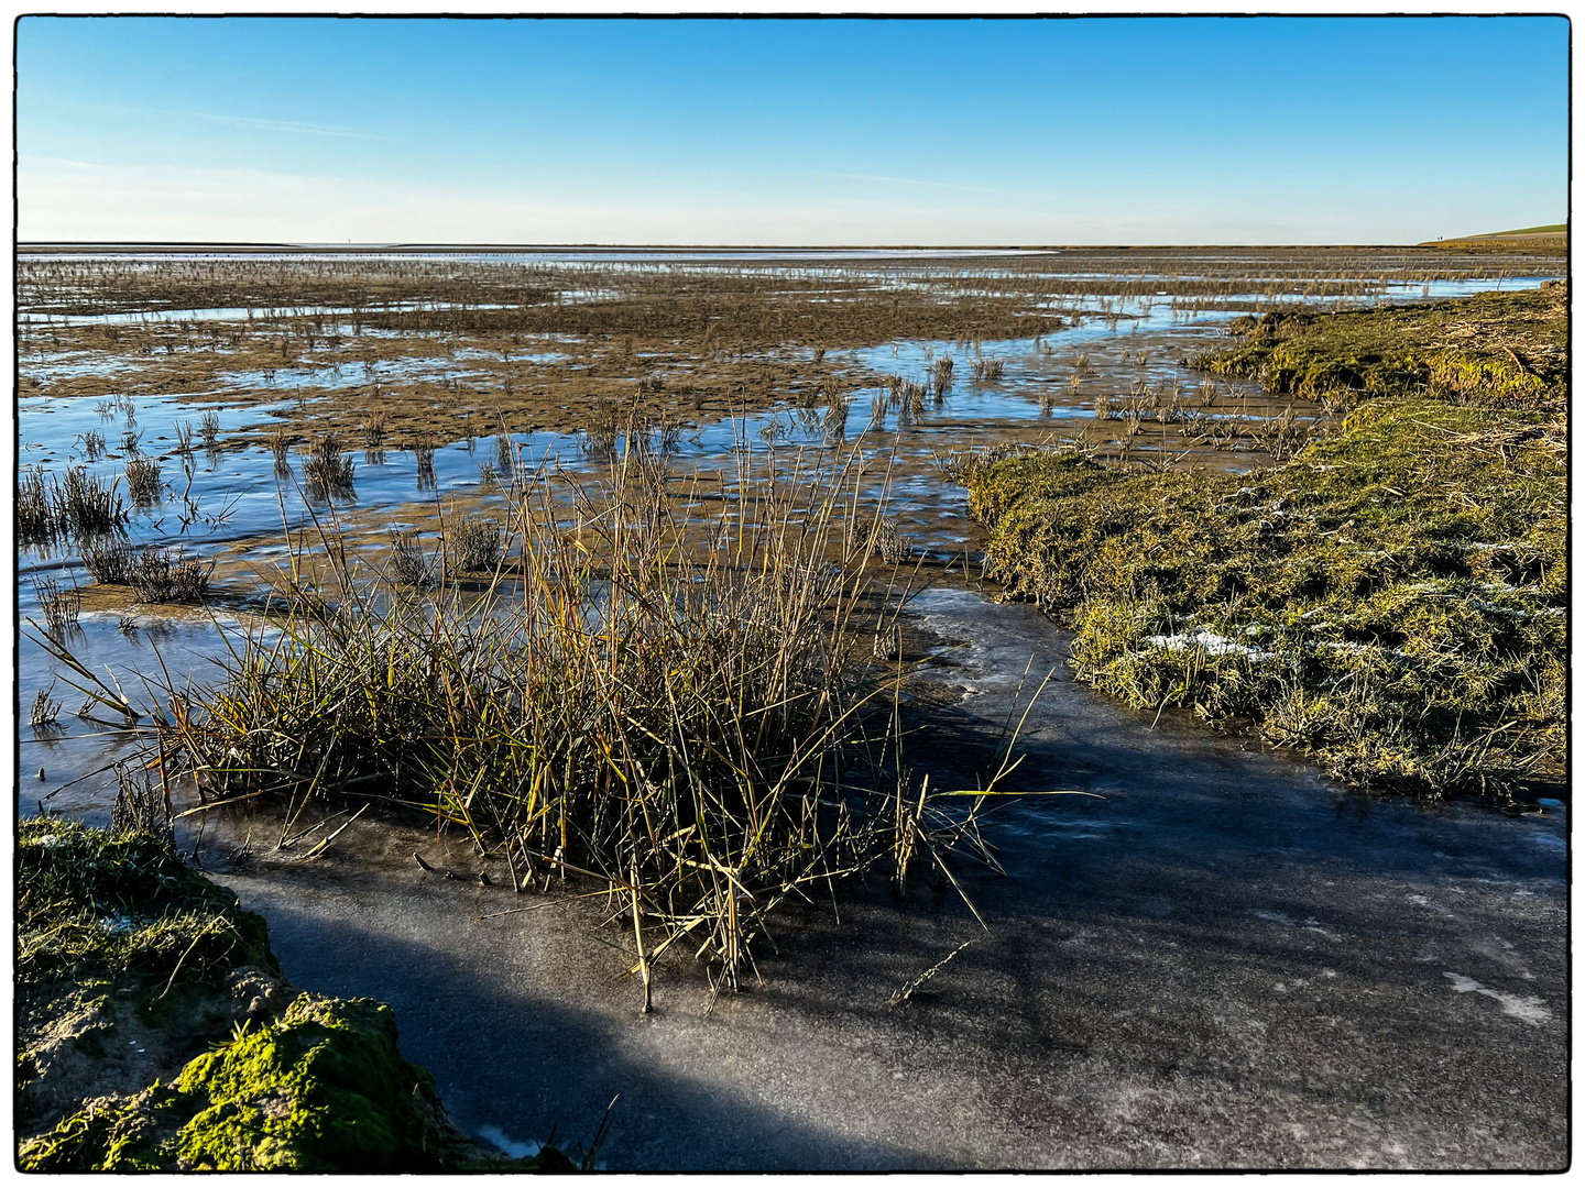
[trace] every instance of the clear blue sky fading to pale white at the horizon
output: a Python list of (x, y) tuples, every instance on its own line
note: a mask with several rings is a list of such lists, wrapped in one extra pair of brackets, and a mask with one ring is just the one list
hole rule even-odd
[(1561, 17), (24, 17), (22, 239), (1415, 242), (1561, 222)]

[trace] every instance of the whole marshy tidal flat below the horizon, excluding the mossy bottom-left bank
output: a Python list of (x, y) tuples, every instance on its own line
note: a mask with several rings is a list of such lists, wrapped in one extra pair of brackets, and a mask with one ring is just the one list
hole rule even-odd
[(24, 252), (19, 814), (490, 1158), (1566, 1166), (1563, 268)]

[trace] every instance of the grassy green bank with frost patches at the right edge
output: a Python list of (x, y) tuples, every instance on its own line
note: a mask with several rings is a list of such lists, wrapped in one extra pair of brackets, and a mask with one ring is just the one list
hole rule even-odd
[(1244, 475), (984, 467), (986, 575), (1071, 626), (1078, 675), (1132, 706), (1252, 724), (1376, 789), (1560, 781), (1566, 318), (1549, 290), (1246, 323), (1200, 366), (1346, 390), (1341, 429)]

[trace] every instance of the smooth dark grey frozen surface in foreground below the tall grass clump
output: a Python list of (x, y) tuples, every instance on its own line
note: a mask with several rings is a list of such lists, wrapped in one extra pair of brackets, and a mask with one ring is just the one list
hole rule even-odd
[[(666, 966), (655, 1014), (594, 901), (425, 873), (466, 843), (355, 825), (223, 874), (309, 988), (390, 1001), (464, 1129), (593, 1133), (612, 1169), (1490, 1167), (1568, 1158), (1561, 806), (1355, 798), (1284, 754), (1100, 703), (1027, 607), (929, 594), (937, 786), (1056, 670), (1002, 809), (1011, 878), (792, 912), (761, 985)], [(945, 649), (953, 642), (968, 646)], [(577, 889), (569, 884), (569, 890)], [(534, 911), (491, 916), (514, 908)], [(491, 916), (491, 919), (480, 919)], [(903, 1007), (888, 1000), (967, 939)], [(708, 1014), (707, 1014), (708, 1011)]]

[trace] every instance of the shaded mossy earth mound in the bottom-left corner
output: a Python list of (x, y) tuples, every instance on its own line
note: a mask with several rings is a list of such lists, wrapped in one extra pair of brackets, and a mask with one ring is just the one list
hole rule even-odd
[[(22, 1171), (571, 1171), (479, 1152), (391, 1009), (287, 984), (166, 838), (38, 817), (16, 854)], [(128, 1047), (185, 1063), (139, 1083)]]

